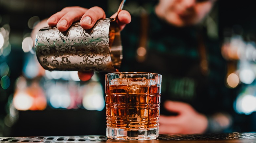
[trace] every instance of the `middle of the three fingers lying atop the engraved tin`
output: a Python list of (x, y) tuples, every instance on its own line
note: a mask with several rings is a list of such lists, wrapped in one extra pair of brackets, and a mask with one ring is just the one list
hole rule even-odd
[(72, 23), (81, 19), (82, 15), (87, 11), (85, 8), (75, 7), (70, 9), (65, 15), (63, 15), (57, 23), (59, 31), (66, 31)]

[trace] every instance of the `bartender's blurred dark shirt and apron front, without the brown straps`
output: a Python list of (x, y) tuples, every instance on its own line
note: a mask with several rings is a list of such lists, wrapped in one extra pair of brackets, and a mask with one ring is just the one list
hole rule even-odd
[[(228, 112), (232, 109), (229, 89), (225, 87), (226, 61), (220, 44), (206, 36), (199, 26), (177, 28), (159, 19), (153, 12), (148, 15), (146, 59), (136, 60), (139, 47), (141, 17), (133, 17), (121, 32), (123, 60), (119, 71), (154, 72), (162, 74), (161, 104), (165, 100), (191, 104), (206, 115)], [(199, 35), (203, 33), (203, 39)], [(200, 41), (205, 47), (208, 71), (200, 66)], [(160, 114), (169, 115), (161, 105)]]

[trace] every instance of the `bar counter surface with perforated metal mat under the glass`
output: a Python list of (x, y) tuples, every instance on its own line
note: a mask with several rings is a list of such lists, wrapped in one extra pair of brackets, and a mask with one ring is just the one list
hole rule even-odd
[(256, 132), (248, 133), (220, 133), (220, 134), (193, 134), (193, 135), (171, 135), (161, 134), (155, 140), (148, 141), (120, 141), (108, 139), (102, 135), (84, 136), (28, 136), (28, 137), (0, 137), (0, 143), (83, 143), (83, 142), (148, 142), (148, 143), (256, 143)]

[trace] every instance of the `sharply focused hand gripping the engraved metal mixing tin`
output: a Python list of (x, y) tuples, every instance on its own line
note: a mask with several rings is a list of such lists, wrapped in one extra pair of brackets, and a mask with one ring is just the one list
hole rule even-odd
[[(117, 13), (111, 16), (116, 17)], [(99, 19), (106, 18), (104, 10), (100, 7), (92, 7), (90, 9), (81, 7), (66, 7), (61, 11), (53, 14), (47, 23), (50, 26), (57, 26), (58, 30), (63, 32), (68, 30), (73, 22), (79, 21), (83, 29), (90, 29)], [(122, 30), (126, 24), (131, 22), (131, 15), (126, 10), (121, 10), (118, 14), (117, 24)]]

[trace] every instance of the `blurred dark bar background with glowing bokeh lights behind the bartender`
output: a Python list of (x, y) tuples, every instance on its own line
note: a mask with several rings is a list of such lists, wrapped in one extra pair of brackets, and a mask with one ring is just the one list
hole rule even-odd
[[(127, 0), (131, 14), (156, 0)], [(76, 71), (45, 71), (31, 31), (67, 6), (99, 6), (110, 16), (120, 0), (0, 0), (0, 136), (105, 135), (104, 89), (96, 73), (81, 82)], [(234, 89), (234, 127), (256, 130), (256, 13), (251, 0), (219, 0), (207, 18), (209, 35), (222, 40), (226, 86)], [(239, 90), (236, 90), (238, 89)]]

